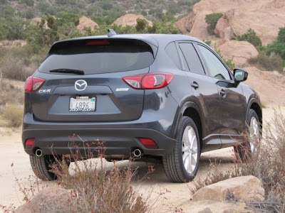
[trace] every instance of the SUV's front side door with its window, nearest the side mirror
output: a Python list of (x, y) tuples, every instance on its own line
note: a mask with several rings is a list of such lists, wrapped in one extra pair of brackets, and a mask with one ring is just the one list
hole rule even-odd
[(245, 113), (244, 106), (246, 100), (243, 95), (242, 87), (234, 84), (234, 77), (229, 72), (227, 65), (209, 48), (197, 44), (197, 49), (202, 55), (209, 75), (212, 76), (219, 90), (219, 133), (223, 147), (235, 143), (233, 137), (239, 137), (244, 129)]

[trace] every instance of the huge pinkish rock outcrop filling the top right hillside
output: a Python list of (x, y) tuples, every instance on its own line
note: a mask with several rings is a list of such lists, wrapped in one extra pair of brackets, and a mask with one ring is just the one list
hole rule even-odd
[(202, 0), (193, 6), (189, 16), (177, 21), (181, 33), (199, 39), (209, 38), (204, 18), (209, 13), (223, 13), (215, 33), (229, 40), (252, 28), (264, 45), (274, 41), (279, 28), (285, 25), (285, 1), (282, 0)]

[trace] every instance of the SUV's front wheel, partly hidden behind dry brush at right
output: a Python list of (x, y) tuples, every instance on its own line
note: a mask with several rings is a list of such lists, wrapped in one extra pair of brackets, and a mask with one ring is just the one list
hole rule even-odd
[[(256, 151), (256, 143), (259, 142), (261, 136), (259, 117), (253, 109), (249, 109), (249, 114), (247, 115), (246, 133), (246, 142), (238, 146), (234, 146), (234, 153), (237, 157), (237, 160), (240, 160), (243, 163), (247, 162), (247, 160), (251, 158), (252, 153)], [(247, 140), (248, 136), (251, 138), (249, 141)], [(254, 137), (257, 137), (256, 143), (254, 143)]]

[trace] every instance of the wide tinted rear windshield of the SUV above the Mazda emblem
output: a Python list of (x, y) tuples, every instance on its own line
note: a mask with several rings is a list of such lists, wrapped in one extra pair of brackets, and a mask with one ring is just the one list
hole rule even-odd
[(139, 70), (153, 61), (152, 48), (141, 40), (71, 40), (53, 45), (38, 71), (71, 69), (88, 75)]

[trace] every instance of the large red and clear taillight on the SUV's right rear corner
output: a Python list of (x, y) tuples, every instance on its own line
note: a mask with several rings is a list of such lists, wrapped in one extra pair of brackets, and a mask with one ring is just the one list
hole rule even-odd
[(123, 77), (123, 80), (133, 89), (160, 89), (170, 84), (171, 73), (154, 72)]

